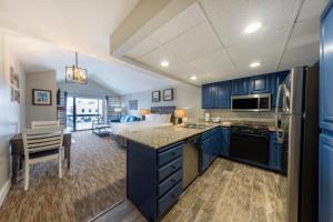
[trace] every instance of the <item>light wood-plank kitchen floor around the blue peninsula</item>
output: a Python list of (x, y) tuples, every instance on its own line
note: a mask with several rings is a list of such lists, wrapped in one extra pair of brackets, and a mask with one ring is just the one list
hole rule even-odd
[[(216, 159), (181, 195), (162, 222), (284, 222), (286, 178)], [(144, 222), (128, 200), (94, 222)]]

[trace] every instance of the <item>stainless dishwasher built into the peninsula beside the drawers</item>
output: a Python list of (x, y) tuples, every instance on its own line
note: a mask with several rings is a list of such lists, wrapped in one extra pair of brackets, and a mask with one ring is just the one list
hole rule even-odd
[(183, 189), (188, 188), (199, 175), (200, 137), (184, 142), (183, 149)]

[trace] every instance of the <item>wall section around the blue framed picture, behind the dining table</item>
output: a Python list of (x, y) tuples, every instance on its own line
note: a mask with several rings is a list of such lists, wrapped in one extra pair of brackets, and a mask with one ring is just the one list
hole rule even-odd
[[(32, 89), (51, 90), (52, 105), (33, 105)], [(57, 120), (57, 80), (56, 71), (27, 73), (27, 127), (31, 121)]]

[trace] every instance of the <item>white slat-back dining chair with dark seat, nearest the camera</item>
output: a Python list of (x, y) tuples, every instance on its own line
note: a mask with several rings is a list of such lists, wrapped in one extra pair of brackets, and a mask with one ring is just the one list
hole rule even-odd
[(26, 129), (22, 133), (24, 148), (24, 190), (29, 188), (30, 165), (58, 159), (59, 178), (62, 178), (61, 153), (63, 128)]

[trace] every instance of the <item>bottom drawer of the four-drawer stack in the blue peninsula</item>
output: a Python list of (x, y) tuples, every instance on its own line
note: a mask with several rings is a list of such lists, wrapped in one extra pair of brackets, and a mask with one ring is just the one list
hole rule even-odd
[(171, 189), (164, 196), (159, 200), (158, 214), (161, 216), (164, 214), (179, 199), (183, 191), (183, 184), (179, 182), (173, 189)]

